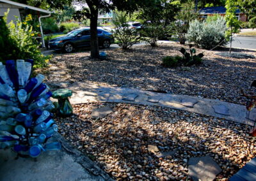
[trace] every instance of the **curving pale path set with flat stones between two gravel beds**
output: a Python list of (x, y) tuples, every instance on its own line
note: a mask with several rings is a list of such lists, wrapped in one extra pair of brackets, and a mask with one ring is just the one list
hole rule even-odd
[(164, 94), (122, 87), (102, 87), (83, 82), (49, 84), (50, 86), (56, 87), (56, 89), (68, 88), (72, 90), (73, 96), (70, 99), (72, 104), (109, 102), (164, 106), (188, 112), (202, 113), (204, 115), (249, 125), (253, 125), (253, 120), (256, 119), (256, 109), (249, 114), (243, 105), (227, 103), (218, 99)]

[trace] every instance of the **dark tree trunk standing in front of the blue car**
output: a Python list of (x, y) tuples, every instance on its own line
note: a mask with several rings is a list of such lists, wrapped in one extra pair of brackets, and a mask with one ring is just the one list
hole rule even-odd
[(91, 10), (90, 18), (90, 32), (91, 32), (91, 57), (99, 57), (99, 41), (97, 34), (97, 22), (98, 22), (99, 10)]

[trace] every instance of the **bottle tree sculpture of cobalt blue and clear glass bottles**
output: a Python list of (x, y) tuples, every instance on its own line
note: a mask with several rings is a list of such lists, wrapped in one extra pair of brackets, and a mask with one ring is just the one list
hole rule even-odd
[(0, 62), (0, 148), (38, 157), (61, 144), (47, 143), (58, 131), (51, 113), (55, 107), (44, 75), (31, 78), (32, 67), (31, 59)]

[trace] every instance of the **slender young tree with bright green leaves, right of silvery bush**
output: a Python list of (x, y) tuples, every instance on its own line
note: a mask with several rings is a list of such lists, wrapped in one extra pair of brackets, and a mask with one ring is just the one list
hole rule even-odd
[(226, 15), (225, 15), (225, 20), (227, 22), (227, 27), (229, 28), (225, 32), (225, 36), (227, 40), (230, 40), (230, 49), (229, 49), (229, 54), (231, 54), (231, 48), (232, 48), (232, 35), (233, 33), (239, 33), (239, 20), (236, 17), (236, 1), (235, 0), (227, 0), (226, 5), (225, 5), (226, 10)]

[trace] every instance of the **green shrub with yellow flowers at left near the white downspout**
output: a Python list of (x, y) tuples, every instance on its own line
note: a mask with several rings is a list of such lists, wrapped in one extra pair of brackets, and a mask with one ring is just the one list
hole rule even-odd
[[(35, 68), (47, 66), (50, 56), (41, 54), (39, 45), (33, 38), (35, 32), (32, 31), (31, 25), (26, 24), (26, 21), (22, 23), (17, 20), (15, 24), (10, 22), (8, 29), (10, 31), (10, 39), (17, 45), (15, 54), (10, 55), (12, 59), (34, 59)], [(9, 48), (10, 45), (6, 44), (5, 46)]]

